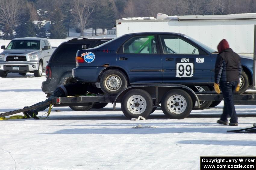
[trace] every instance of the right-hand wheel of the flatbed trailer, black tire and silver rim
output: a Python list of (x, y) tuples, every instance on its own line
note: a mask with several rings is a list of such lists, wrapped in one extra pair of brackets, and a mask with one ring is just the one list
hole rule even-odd
[(170, 119), (184, 119), (189, 116), (193, 101), (186, 91), (173, 89), (164, 95), (161, 106), (165, 116)]

